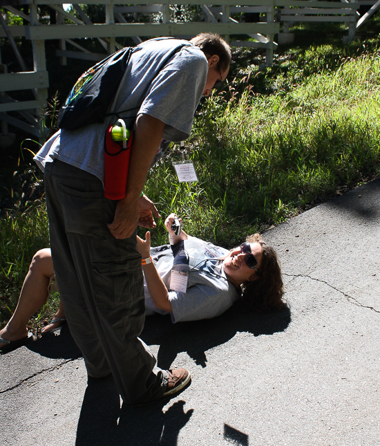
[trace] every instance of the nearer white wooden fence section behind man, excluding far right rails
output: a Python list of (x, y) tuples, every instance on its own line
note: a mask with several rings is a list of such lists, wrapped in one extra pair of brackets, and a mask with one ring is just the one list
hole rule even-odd
[[(61, 64), (66, 64), (67, 57), (79, 57), (98, 61), (113, 53), (120, 44), (119, 37), (132, 37), (135, 42), (141, 37), (175, 36), (191, 38), (199, 32), (218, 32), (227, 40), (233, 35), (249, 35), (251, 41), (231, 41), (236, 46), (253, 46), (265, 48), (267, 64), (272, 63), (274, 35), (278, 33), (279, 24), (274, 22), (274, 0), (244, 0), (243, 6), (256, 8), (267, 16), (267, 21), (244, 23), (231, 18), (231, 0), (218, 0), (218, 8), (211, 8), (211, 1), (175, 0), (175, 5), (196, 5), (202, 13), (202, 21), (178, 21), (171, 14), (173, 8), (169, 0), (143, 0), (143, 3), (123, 3), (120, 0), (86, 0), (85, 4), (104, 5), (106, 20), (104, 24), (93, 24), (83, 8), (75, 5), (77, 15), (66, 12), (63, 1), (56, 0), (0, 0), (3, 11), (12, 13), (28, 22), (26, 26), (8, 26), (6, 18), (0, 12), (0, 38), (7, 38), (21, 67), (18, 73), (0, 73), (0, 120), (2, 133), (7, 132), (6, 124), (23, 129), (44, 140), (44, 125), (40, 118), (48, 99), (48, 72), (46, 71), (45, 41), (59, 39), (60, 49), (57, 56)], [(265, 6), (263, 6), (265, 4)], [(21, 6), (29, 7), (29, 14), (21, 11)], [(44, 24), (39, 15), (39, 6), (48, 6), (57, 12), (57, 24)], [(149, 23), (129, 23), (126, 15), (145, 13), (156, 15), (155, 21)], [(78, 18), (80, 17), (80, 19)], [(158, 16), (158, 17), (157, 17)], [(22, 37), (32, 42), (33, 71), (26, 70), (26, 64), (17, 50), (15, 38)], [(78, 39), (98, 39), (104, 47), (104, 53), (93, 54), (80, 44)], [(0, 55), (1, 56), (1, 55)], [(0, 59), (1, 63), (1, 59)], [(32, 89), (33, 100), (13, 100), (10, 91)], [(21, 118), (15, 118), (9, 112), (18, 111)]]

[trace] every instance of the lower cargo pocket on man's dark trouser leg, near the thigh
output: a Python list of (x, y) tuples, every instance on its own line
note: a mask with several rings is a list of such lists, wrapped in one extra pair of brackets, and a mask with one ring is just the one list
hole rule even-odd
[(98, 308), (131, 306), (144, 299), (140, 255), (93, 261), (92, 266)]

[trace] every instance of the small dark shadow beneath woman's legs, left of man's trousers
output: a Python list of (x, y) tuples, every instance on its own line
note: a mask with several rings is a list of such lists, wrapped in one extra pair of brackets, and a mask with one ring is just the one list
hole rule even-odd
[(30, 342), (26, 347), (41, 356), (53, 359), (75, 359), (82, 357), (82, 352), (75, 344), (67, 324), (61, 326), (59, 334), (47, 333), (39, 337), (35, 342)]

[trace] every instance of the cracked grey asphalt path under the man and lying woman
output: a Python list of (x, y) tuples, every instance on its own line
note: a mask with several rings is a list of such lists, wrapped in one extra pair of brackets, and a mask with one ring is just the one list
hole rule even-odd
[(147, 318), (158, 364), (193, 377), (171, 400), (120, 409), (64, 328), (2, 355), (0, 445), (380, 445), (379, 235), (377, 179), (264, 234), (288, 310)]

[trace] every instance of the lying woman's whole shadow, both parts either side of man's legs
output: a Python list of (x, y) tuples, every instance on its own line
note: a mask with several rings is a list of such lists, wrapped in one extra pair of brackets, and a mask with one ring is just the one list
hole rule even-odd
[[(141, 339), (147, 345), (160, 345), (158, 366), (169, 369), (180, 352), (187, 352), (196, 364), (205, 367), (205, 351), (225, 344), (236, 333), (252, 333), (254, 336), (272, 335), (284, 331), (291, 320), (289, 308), (267, 314), (241, 313), (236, 306), (213, 319), (172, 324), (168, 316), (146, 317)], [(28, 344), (27, 348), (41, 356), (53, 359), (74, 359), (82, 353), (70, 334), (67, 325), (59, 335), (50, 333)]]

